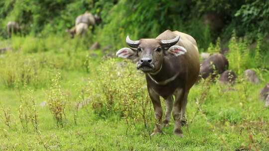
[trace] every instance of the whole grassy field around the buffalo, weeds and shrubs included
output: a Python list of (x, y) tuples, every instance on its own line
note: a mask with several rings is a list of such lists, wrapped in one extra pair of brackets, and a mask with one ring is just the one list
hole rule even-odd
[(13, 51), (0, 56), (1, 151), (269, 151), (269, 109), (259, 100), (268, 70), (256, 69), (259, 84), (241, 70), (235, 85), (195, 84), (184, 138), (173, 135), (173, 121), (149, 137), (154, 115), (144, 75), (101, 50), (56, 39), (2, 43)]

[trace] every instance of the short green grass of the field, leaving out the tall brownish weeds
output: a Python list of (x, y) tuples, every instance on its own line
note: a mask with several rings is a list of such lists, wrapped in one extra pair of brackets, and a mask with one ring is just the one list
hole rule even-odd
[[(50, 40), (47, 39), (47, 42)], [(61, 44), (61, 42), (58, 43)], [(64, 50), (72, 47), (73, 43), (68, 44), (67, 42), (63, 46)], [(46, 49), (52, 49), (50, 47), (54, 46), (48, 45)], [(127, 120), (126, 116), (131, 114), (124, 111), (126, 108), (121, 108), (130, 105), (127, 107), (134, 108), (135, 112), (140, 111), (139, 106), (132, 105), (133, 100), (127, 101), (128, 104), (122, 102), (126, 97), (122, 94), (125, 92), (129, 94), (130, 91), (130, 95), (137, 99), (137, 102), (141, 101), (139, 98), (143, 98), (140, 94), (136, 96), (132, 93), (135, 88), (145, 86), (144, 75), (137, 74), (133, 64), (127, 63), (126, 67), (122, 67), (123, 70), (120, 71), (119, 76), (122, 77), (123, 82), (127, 83), (122, 84), (116, 77), (117, 67), (114, 67), (121, 60), (102, 59), (100, 51), (96, 52), (97, 58), (87, 58), (89, 52), (84, 50), (84, 47), (79, 47), (78, 51), (71, 52), (71, 55), (63, 50), (59, 52), (38, 50), (37, 52), (14, 51), (4, 54), (4, 57), (1, 58), (0, 72), (8, 71), (11, 65), (20, 65), (17, 63), (24, 62), (24, 59), (35, 60), (37, 64), (43, 63), (42, 66), (38, 66), (38, 70), (53, 71), (49, 76), (40, 72), (36, 78), (41, 78), (42, 82), (32, 80), (26, 84), (14, 83), (13, 86), (5, 85), (2, 77), (6, 77), (6, 75), (0, 75), (0, 103), (5, 110), (10, 108), (11, 113), (10, 128), (0, 119), (1, 151), (269, 150), (269, 109), (265, 108), (263, 102), (259, 100), (260, 90), (269, 81), (267, 71), (260, 70), (263, 78), (257, 85), (242, 81), (241, 75), (233, 86), (221, 85), (218, 82), (209, 85), (203, 82), (195, 84), (189, 94), (188, 125), (182, 129), (184, 138), (173, 135), (173, 120), (169, 127), (163, 129), (162, 134), (150, 138), (149, 133), (153, 131), (154, 127), (152, 104), (149, 104), (150, 106), (147, 108), (148, 128), (144, 127), (140, 116), (136, 114), (132, 114), (132, 117), (137, 120), (130, 119), (130, 117), (127, 117)], [(86, 61), (89, 70), (85, 66)], [(110, 64), (113, 66), (110, 67)], [(11, 72), (19, 72), (19, 67), (17, 69), (18, 71), (12, 70)], [(55, 79), (57, 73), (61, 73), (58, 84), (66, 97), (63, 128), (57, 127), (56, 120), (47, 104), (44, 107), (40, 106), (41, 102), (48, 100), (48, 91), (54, 90), (51, 88), (51, 84), (54, 84), (55, 81), (51, 81), (51, 79)], [(261, 75), (259, 75), (260, 78)], [(17, 76), (15, 81), (20, 78)], [(137, 82), (138, 80), (140, 81)], [(128, 90), (117, 91), (114, 94), (117, 97), (112, 103), (113, 107), (109, 110), (103, 106), (101, 112), (94, 108), (92, 102), (108, 103), (106, 97), (103, 96), (106, 91), (102, 91), (102, 88), (106, 86), (113, 86), (111, 91), (124, 88)], [(31, 103), (28, 97), (29, 88), (33, 90), (32, 96), (36, 104), (38, 132), (34, 131), (30, 120), (28, 131), (25, 131), (19, 120), (19, 105), (23, 102), (28, 105)], [(81, 95), (82, 91), (85, 93), (84, 95)], [(206, 95), (202, 98), (201, 95), (204, 93)], [(101, 96), (98, 97), (99, 95)], [(55, 94), (55, 96), (58, 95)], [(22, 103), (20, 98), (23, 98)], [(77, 124), (75, 124), (75, 104), (87, 98), (91, 98), (91, 102), (78, 110)], [(162, 105), (164, 107), (163, 100)], [(4, 117), (2, 110), (0, 110), (0, 116)], [(127, 124), (126, 121), (134, 124)]]

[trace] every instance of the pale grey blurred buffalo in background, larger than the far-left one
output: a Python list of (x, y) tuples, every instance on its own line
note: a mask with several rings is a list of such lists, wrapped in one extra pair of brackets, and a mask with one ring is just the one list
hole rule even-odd
[(67, 29), (66, 32), (69, 32), (72, 38), (75, 35), (84, 35), (85, 33), (87, 33), (89, 26), (94, 27), (100, 22), (100, 16), (93, 15), (92, 13), (86, 11), (84, 14), (77, 16), (75, 20), (75, 26), (71, 29)]

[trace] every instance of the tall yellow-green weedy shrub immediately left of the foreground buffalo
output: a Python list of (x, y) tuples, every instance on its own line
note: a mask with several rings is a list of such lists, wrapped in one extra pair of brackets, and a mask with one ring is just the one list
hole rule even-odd
[(105, 118), (116, 114), (129, 124), (147, 123), (151, 118), (151, 105), (144, 75), (135, 71), (134, 64), (115, 59), (100, 67), (97, 79), (90, 83), (95, 113)]

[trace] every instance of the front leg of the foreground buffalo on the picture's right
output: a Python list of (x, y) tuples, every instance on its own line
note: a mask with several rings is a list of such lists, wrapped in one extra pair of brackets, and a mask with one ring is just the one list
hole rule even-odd
[(183, 132), (181, 130), (181, 109), (183, 106), (183, 98), (185, 95), (184, 89), (177, 89), (175, 91), (175, 103), (173, 108), (173, 117), (175, 120), (174, 134), (183, 137)]

